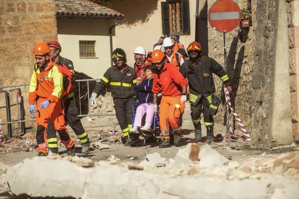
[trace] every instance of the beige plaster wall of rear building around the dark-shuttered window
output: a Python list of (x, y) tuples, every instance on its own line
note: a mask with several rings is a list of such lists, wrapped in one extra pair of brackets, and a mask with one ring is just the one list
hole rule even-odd
[[(165, 1), (163, 1), (165, 2)], [(199, 12), (204, 9), (206, 1), (200, 1)], [(122, 48), (128, 59), (128, 65), (133, 66), (133, 52), (136, 47), (142, 46), (146, 52), (153, 51), (153, 45), (156, 44), (162, 35), (162, 15), (160, 0), (119, 2), (111, 0), (112, 9), (124, 14), (125, 18), (116, 26), (115, 46)], [(189, 43), (195, 40), (195, 14), (196, 1), (189, 1), (190, 13), (190, 34), (180, 35), (180, 42), (185, 49)], [(203, 21), (206, 23), (206, 21)], [(202, 30), (206, 31), (206, 30)], [(206, 31), (207, 32), (207, 31)], [(171, 36), (170, 36), (171, 37)], [(206, 48), (207, 49), (207, 48)]]

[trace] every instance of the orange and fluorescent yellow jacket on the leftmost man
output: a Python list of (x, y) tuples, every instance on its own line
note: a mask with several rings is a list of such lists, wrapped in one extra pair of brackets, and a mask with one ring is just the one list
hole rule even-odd
[(28, 103), (34, 104), (37, 97), (57, 102), (63, 90), (63, 76), (58, 65), (51, 60), (47, 63), (48, 68), (34, 66), (30, 81)]

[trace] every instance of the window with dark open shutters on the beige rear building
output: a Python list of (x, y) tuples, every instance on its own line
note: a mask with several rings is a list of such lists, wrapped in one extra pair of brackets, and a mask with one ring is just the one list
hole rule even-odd
[(164, 35), (190, 34), (189, 0), (166, 0), (161, 11)]

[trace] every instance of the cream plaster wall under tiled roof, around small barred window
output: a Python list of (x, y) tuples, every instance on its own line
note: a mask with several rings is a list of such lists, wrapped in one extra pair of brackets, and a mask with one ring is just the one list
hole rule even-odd
[[(109, 28), (114, 23), (111, 19), (58, 18), (60, 55), (73, 61), (76, 72), (100, 79), (111, 66)], [(95, 58), (80, 58), (80, 40), (95, 41)]]

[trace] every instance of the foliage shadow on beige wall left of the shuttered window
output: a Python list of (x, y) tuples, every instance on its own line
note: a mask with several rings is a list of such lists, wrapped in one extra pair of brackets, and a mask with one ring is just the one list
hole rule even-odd
[(146, 23), (158, 9), (158, 0), (112, 0), (111, 8), (124, 14), (120, 25), (133, 26), (137, 22)]

